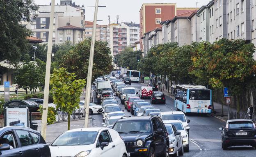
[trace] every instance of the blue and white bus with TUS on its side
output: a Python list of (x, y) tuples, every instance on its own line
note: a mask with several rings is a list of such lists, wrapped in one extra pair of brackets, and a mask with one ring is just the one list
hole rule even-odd
[(175, 85), (174, 106), (184, 113), (211, 113), (212, 90), (200, 85)]

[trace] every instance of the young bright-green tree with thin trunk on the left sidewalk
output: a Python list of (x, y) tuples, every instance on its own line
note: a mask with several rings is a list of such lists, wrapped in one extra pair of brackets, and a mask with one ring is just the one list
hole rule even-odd
[(50, 77), (50, 85), (53, 90), (53, 103), (68, 114), (68, 130), (70, 129), (70, 115), (79, 108), (80, 95), (85, 86), (85, 79), (75, 80), (75, 74), (67, 69), (54, 69)]

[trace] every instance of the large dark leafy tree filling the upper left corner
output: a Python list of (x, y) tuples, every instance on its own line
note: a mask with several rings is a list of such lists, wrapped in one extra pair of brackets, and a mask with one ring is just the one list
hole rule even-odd
[(26, 37), (31, 35), (20, 22), (30, 22), (31, 13), (35, 18), (38, 9), (33, 0), (0, 0), (0, 61), (20, 60), (22, 52), (27, 50)]

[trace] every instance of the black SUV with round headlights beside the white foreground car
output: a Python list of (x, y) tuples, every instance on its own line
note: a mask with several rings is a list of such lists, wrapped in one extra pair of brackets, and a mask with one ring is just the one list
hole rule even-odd
[(169, 138), (160, 117), (122, 117), (113, 126), (131, 157), (169, 156)]

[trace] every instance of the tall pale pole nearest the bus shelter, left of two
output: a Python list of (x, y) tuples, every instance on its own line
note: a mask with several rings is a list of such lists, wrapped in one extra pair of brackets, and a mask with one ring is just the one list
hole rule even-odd
[(47, 49), (47, 59), (46, 59), (46, 77), (44, 83), (44, 94), (43, 94), (43, 115), (42, 115), (42, 128), (41, 135), (46, 140), (46, 127), (47, 127), (47, 113), (48, 113), (48, 97), (49, 97), (49, 83), (50, 83), (50, 64), (52, 56), (52, 45), (53, 45), (53, 15), (55, 0), (51, 2), (50, 11), (50, 28), (49, 28), (49, 38), (48, 38), (48, 49)]

